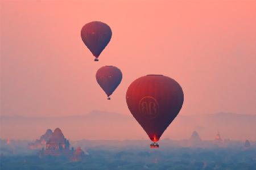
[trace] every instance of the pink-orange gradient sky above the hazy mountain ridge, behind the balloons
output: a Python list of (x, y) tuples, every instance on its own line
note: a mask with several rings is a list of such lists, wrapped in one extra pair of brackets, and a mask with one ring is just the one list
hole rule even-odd
[[(163, 74), (184, 91), (180, 114), (256, 114), (256, 1), (1, 1), (1, 114), (130, 114), (139, 76)], [(98, 20), (113, 36), (93, 56), (80, 37)], [(106, 100), (95, 74), (119, 67)]]

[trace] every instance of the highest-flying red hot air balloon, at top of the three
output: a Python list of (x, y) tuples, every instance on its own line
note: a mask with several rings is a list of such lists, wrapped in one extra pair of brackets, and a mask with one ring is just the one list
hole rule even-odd
[(112, 37), (112, 31), (109, 25), (102, 22), (90, 22), (84, 25), (81, 29), (81, 38), (84, 44), (92, 52), (95, 57), (94, 61), (98, 61), (102, 50)]

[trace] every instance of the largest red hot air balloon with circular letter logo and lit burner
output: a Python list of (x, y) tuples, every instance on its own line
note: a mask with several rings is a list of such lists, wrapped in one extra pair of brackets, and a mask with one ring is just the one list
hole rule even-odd
[(163, 75), (142, 76), (126, 92), (127, 106), (154, 142), (151, 147), (159, 147), (156, 142), (180, 112), (183, 100), (179, 83)]

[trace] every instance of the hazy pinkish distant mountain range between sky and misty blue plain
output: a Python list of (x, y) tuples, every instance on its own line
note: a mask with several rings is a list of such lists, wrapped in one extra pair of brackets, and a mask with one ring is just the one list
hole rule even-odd
[[(223, 139), (256, 141), (256, 115), (216, 113), (179, 115), (164, 132), (162, 139), (188, 139), (196, 130), (202, 140), (213, 140), (217, 131)], [(147, 139), (132, 116), (93, 111), (79, 116), (25, 117), (1, 116), (1, 138), (36, 139), (46, 129), (61, 128), (65, 136), (79, 139)]]

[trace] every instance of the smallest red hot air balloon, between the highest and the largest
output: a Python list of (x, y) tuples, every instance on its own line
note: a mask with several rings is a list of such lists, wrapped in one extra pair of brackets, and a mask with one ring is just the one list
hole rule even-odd
[(108, 96), (108, 100), (110, 100), (109, 96), (113, 94), (115, 89), (121, 83), (122, 72), (114, 66), (103, 66), (98, 69), (96, 73), (96, 80), (102, 90), (105, 91)]

